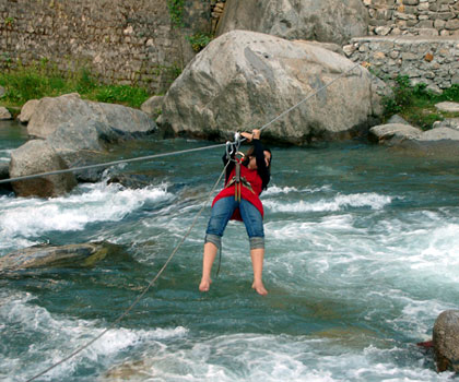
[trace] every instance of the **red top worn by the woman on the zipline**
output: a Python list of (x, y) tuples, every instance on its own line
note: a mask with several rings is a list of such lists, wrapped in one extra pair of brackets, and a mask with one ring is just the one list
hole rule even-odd
[[(236, 169), (234, 168), (229, 177), (226, 179), (225, 184), (233, 179), (234, 175), (236, 172)], [(260, 212), (261, 217), (263, 217), (263, 205), (261, 204), (259, 194), (262, 191), (262, 180), (261, 177), (258, 175), (257, 170), (249, 170), (246, 166), (240, 165), (240, 177), (246, 178), (246, 180), (250, 183), (251, 189), (254, 192), (251, 192), (247, 187), (245, 187), (243, 183), (240, 184), (240, 198), (250, 202), (255, 205), (255, 207)], [(215, 199), (212, 202), (212, 206), (215, 204), (216, 201), (221, 200), (222, 198), (232, 196), (234, 198), (235, 194), (235, 184), (232, 184), (227, 188), (224, 188), (222, 191), (219, 192), (219, 194), (215, 196)], [(232, 220), (243, 220), (240, 216), (239, 208), (236, 208), (233, 216), (231, 217)]]

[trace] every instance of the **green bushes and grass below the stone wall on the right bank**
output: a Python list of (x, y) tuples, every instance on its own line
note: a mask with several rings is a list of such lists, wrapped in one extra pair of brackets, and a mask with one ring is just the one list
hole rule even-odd
[(398, 114), (409, 123), (428, 130), (435, 121), (445, 118), (458, 118), (459, 114), (442, 112), (435, 104), (449, 100), (459, 103), (459, 85), (452, 85), (442, 95), (427, 91), (427, 85), (412, 86), (407, 75), (398, 76), (392, 87), (393, 96), (384, 98), (385, 117)]

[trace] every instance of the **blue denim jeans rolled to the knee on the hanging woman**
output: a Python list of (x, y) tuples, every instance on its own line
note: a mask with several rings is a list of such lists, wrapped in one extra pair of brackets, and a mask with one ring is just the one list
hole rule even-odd
[(205, 231), (205, 242), (213, 242), (221, 248), (223, 232), (237, 207), (246, 226), (250, 249), (264, 248), (263, 218), (260, 212), (250, 202), (244, 199), (237, 202), (234, 196), (222, 198), (213, 205)]

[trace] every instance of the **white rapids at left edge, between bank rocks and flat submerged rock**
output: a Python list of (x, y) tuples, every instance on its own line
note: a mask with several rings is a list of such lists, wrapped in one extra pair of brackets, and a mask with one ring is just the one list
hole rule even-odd
[(0, 196), (0, 250), (24, 240), (33, 242), (31, 238), (51, 230), (82, 230), (91, 223), (118, 222), (145, 203), (172, 198), (166, 186), (132, 190), (105, 182), (47, 200)]

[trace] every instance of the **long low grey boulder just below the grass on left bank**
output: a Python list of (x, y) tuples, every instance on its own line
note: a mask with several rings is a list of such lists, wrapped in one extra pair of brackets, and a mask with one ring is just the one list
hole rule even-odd
[(113, 129), (125, 139), (149, 134), (156, 130), (154, 121), (143, 111), (121, 105), (85, 102), (76, 93), (60, 97), (45, 97), (38, 102), (27, 132), (35, 138), (47, 138), (70, 120), (95, 120)]

